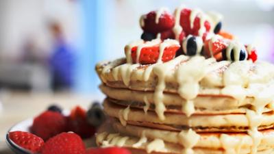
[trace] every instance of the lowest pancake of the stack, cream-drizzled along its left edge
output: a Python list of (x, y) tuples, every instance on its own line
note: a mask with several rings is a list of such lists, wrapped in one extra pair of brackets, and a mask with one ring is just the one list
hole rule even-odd
[[(165, 134), (164, 134), (165, 135)], [(214, 136), (215, 135), (215, 136)], [(249, 144), (252, 144), (252, 139), (245, 134), (241, 135), (201, 135), (199, 141), (204, 142), (205, 144), (212, 145), (212, 147), (203, 148), (203, 147), (194, 147), (194, 153), (201, 154), (212, 154), (212, 153), (239, 153), (247, 154), (251, 152)], [(175, 135), (176, 136), (176, 135)], [(273, 132), (264, 132), (264, 142), (262, 146), (258, 147), (258, 153), (270, 154), (273, 152)], [(192, 139), (193, 140), (193, 139)], [(206, 143), (208, 142), (208, 143)], [(218, 142), (220, 146), (223, 147), (223, 144), (227, 149), (215, 148), (213, 143)], [(108, 147), (108, 146), (123, 146), (128, 149), (131, 149), (134, 153), (178, 153), (181, 154), (184, 150), (184, 146), (180, 144), (174, 144), (173, 142), (166, 142), (161, 139), (151, 140), (146, 137), (134, 137), (126, 136), (120, 133), (99, 133), (97, 134), (97, 144), (99, 146)], [(216, 146), (217, 147), (217, 146)]]

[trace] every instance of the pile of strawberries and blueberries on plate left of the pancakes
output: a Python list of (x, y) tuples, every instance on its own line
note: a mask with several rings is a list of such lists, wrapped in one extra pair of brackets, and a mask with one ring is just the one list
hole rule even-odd
[(41, 154), (130, 154), (127, 149), (92, 148), (86, 149), (82, 139), (94, 136), (95, 131), (105, 120), (99, 103), (93, 103), (86, 112), (76, 106), (69, 116), (64, 116), (57, 105), (51, 105), (47, 111), (34, 118), (31, 133), (12, 131), (10, 140), (32, 153)]

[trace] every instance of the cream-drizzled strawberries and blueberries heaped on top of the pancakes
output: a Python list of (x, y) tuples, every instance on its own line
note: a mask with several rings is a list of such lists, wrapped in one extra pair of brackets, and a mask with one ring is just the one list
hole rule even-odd
[[(214, 57), (217, 61), (257, 60), (256, 49), (243, 45), (232, 34), (221, 30), (221, 16), (216, 13), (204, 13), (201, 10), (177, 8), (174, 14), (161, 8), (140, 17), (141, 35), (145, 44), (155, 39), (174, 39), (179, 44), (171, 44), (164, 49), (162, 62), (172, 60), (179, 55), (203, 55)], [(161, 43), (161, 42), (160, 42)], [(132, 62), (154, 64), (158, 61), (160, 43), (153, 46), (143, 45), (139, 57), (136, 57), (138, 46), (132, 47)], [(136, 61), (138, 59), (138, 62)]]

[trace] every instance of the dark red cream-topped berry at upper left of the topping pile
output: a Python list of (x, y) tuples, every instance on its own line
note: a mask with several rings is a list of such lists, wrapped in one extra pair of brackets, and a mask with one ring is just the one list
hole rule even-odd
[(173, 17), (173, 15), (166, 11), (163, 11), (162, 14), (160, 14), (158, 23), (155, 22), (155, 18), (155, 11), (151, 11), (141, 17), (140, 20), (141, 23), (143, 23), (143, 25), (141, 24), (141, 27), (145, 32), (158, 34), (162, 31), (172, 29), (175, 24), (175, 18)]

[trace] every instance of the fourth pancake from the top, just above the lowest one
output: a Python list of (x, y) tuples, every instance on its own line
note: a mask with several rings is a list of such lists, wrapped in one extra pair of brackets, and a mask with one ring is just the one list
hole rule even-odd
[[(114, 122), (112, 124), (113, 129), (125, 136), (134, 136), (136, 138), (141, 138), (146, 136), (147, 138), (153, 140), (158, 138), (164, 142), (170, 142), (173, 144), (182, 144), (182, 140), (178, 138), (179, 134), (182, 132), (177, 131), (164, 131), (161, 129), (151, 129), (147, 127), (138, 127), (134, 125), (127, 125), (123, 127), (119, 122)], [(184, 131), (187, 132), (187, 131)], [(262, 132), (262, 140), (258, 145), (259, 150), (274, 148), (274, 130), (268, 129)], [(251, 149), (253, 146), (253, 139), (247, 135), (247, 133), (197, 133), (199, 135), (199, 140), (195, 144), (195, 148), (203, 149), (223, 149), (225, 146), (225, 140), (233, 140), (238, 142), (238, 149)], [(225, 135), (224, 135), (225, 134)], [(185, 142), (187, 140), (184, 140)], [(231, 145), (229, 145), (231, 146)]]

